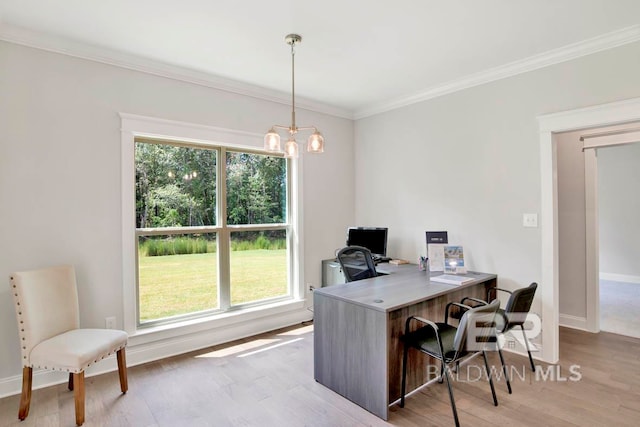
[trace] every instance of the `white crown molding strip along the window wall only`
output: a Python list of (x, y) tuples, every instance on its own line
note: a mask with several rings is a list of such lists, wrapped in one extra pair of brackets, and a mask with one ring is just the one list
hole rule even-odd
[[(178, 67), (161, 61), (118, 52), (112, 49), (79, 43), (67, 38), (26, 30), (0, 21), (0, 40), (28, 46), (49, 52), (61, 53), (89, 61), (101, 62), (120, 68), (140, 71), (160, 77), (166, 77), (187, 83), (193, 83), (212, 89), (223, 90), (238, 95), (250, 96), (265, 101), (291, 105), (288, 93), (267, 89), (261, 86), (243, 83), (215, 74)], [(328, 114), (353, 120), (353, 112), (333, 105), (296, 97), (296, 107), (317, 113)]]

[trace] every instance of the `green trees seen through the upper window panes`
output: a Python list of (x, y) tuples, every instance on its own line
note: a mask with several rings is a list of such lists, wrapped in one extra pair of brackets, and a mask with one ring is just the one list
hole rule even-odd
[[(217, 151), (137, 142), (136, 225), (216, 224)], [(227, 152), (227, 222), (286, 221), (287, 162), (282, 157)]]

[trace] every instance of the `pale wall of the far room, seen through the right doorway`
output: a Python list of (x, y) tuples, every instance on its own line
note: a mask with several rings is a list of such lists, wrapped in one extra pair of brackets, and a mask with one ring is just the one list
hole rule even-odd
[(640, 143), (598, 149), (600, 274), (640, 280)]

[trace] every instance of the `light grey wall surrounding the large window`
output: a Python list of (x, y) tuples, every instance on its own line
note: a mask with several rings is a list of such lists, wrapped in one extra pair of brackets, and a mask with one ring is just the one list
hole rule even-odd
[[(0, 70), (2, 391), (21, 374), (12, 271), (74, 264), (81, 324), (122, 326), (119, 112), (264, 133), (290, 107), (5, 42)], [(298, 121), (326, 140), (304, 158), (302, 189), (305, 283), (318, 285), (353, 223), (353, 123), (305, 110)]]

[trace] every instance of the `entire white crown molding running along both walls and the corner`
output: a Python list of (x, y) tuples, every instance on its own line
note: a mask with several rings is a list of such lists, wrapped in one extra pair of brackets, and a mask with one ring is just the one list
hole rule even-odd
[[(101, 62), (121, 68), (140, 71), (208, 88), (223, 90), (239, 95), (290, 105), (290, 95), (261, 86), (243, 83), (210, 73), (204, 73), (164, 62), (142, 58), (136, 55), (117, 52), (111, 49), (78, 43), (69, 39), (37, 33), (17, 26), (1, 23), (0, 40), (20, 44), (36, 49), (61, 53), (90, 61)], [(358, 120), (376, 114), (427, 101), (443, 95), (458, 92), (492, 81), (534, 71), (550, 65), (570, 61), (614, 47), (640, 40), (640, 25), (623, 28), (598, 37), (553, 49), (539, 55), (514, 61), (476, 74), (452, 80), (420, 93), (391, 99), (370, 107), (351, 111), (329, 104), (315, 102), (305, 98), (296, 98), (296, 106), (301, 109), (328, 114), (350, 120)]]

